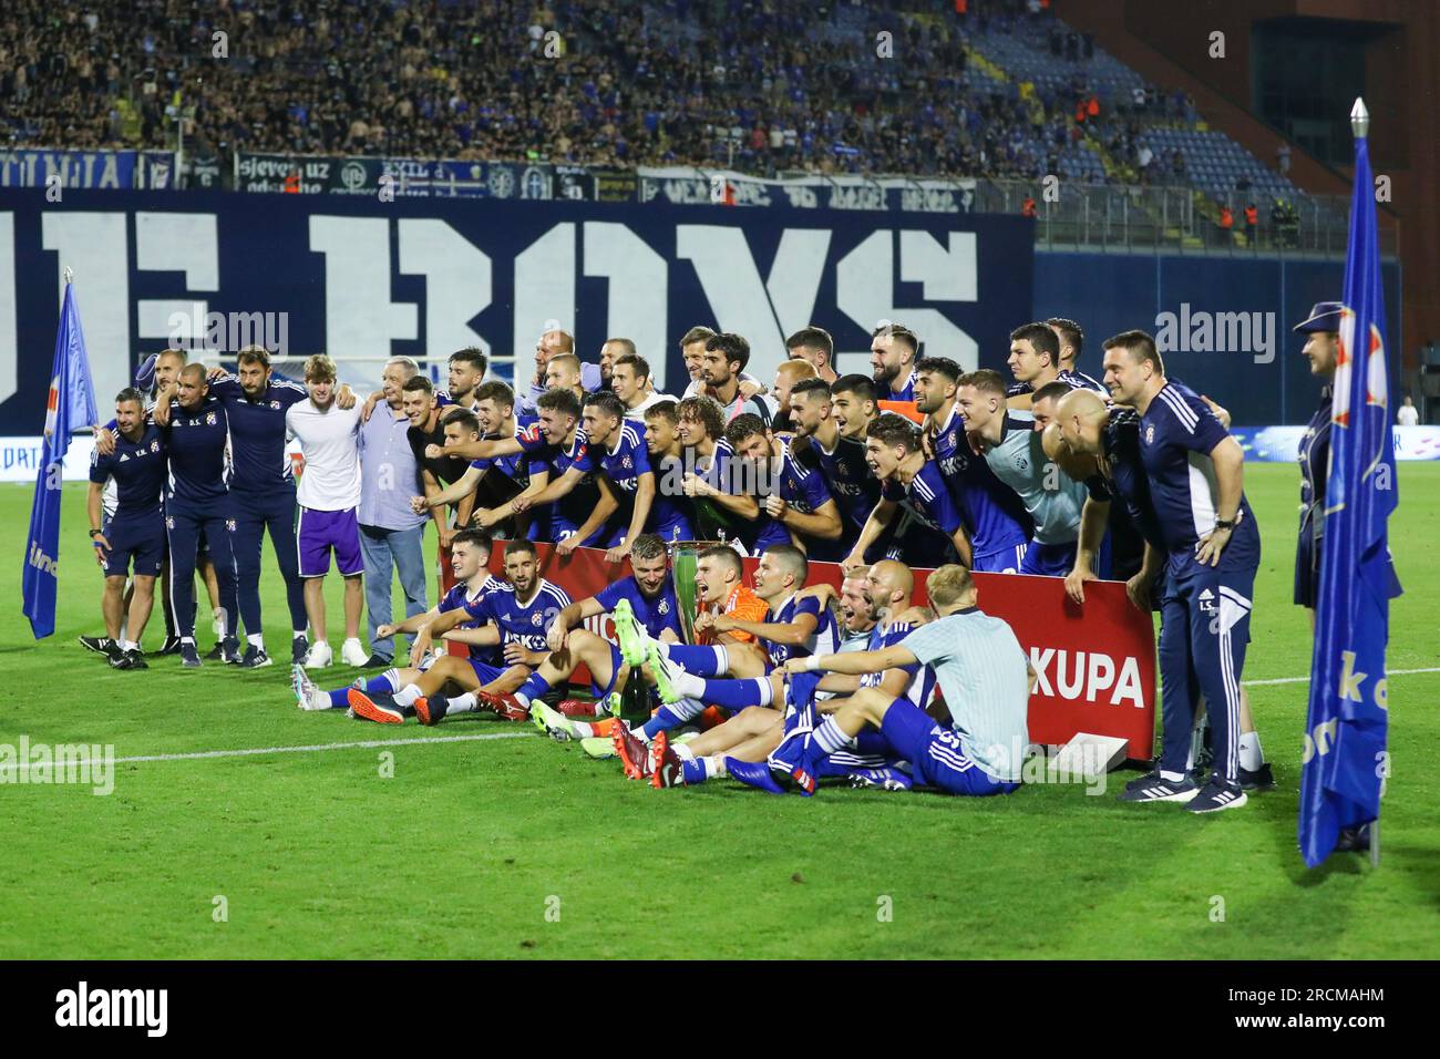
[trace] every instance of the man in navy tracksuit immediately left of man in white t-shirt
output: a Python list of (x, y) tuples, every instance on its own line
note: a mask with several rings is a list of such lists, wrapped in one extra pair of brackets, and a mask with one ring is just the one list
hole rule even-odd
[[(236, 354), (233, 376), (222, 369), (212, 370), (210, 393), (225, 403), (235, 450), (235, 477), (230, 481), (235, 565), (239, 572), (240, 620), (248, 640), (240, 666), (269, 666), (261, 622), (261, 552), (266, 532), (285, 579), (291, 660), (302, 661), (310, 651), (305, 635), (308, 618), (305, 584), (300, 578), (295, 552), (295, 475), (285, 445), (285, 414), (308, 395), (300, 383), (272, 377), (269, 353), (261, 346), (248, 346)], [(354, 405), (354, 395), (341, 389), (336, 403), (348, 408)]]

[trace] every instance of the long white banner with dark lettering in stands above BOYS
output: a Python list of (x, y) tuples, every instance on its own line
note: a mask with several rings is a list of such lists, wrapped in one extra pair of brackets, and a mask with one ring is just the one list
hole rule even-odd
[(768, 206), (779, 209), (868, 209), (909, 213), (969, 213), (973, 180), (907, 177), (801, 176), (760, 180), (688, 167), (641, 169), (639, 200), (690, 206)]

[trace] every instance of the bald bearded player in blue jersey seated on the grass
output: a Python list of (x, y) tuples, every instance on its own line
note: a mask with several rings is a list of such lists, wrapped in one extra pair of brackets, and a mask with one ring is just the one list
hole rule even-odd
[[(842, 592), (854, 591), (854, 578), (847, 578)], [(851, 637), (840, 651), (877, 651), (891, 647), (904, 640), (916, 624), (929, 620), (929, 614), (922, 608), (910, 605), (910, 594), (914, 589), (914, 576), (910, 569), (893, 559), (884, 559), (871, 566), (860, 584), (860, 598), (851, 599), (845, 609), (845, 624), (851, 631), (868, 627), (868, 634)], [(878, 624), (877, 624), (878, 621)], [(785, 676), (782, 670), (770, 674), (775, 687), (775, 702), (782, 702)], [(881, 692), (909, 699), (920, 709), (924, 709), (935, 690), (935, 682), (919, 664), (897, 666), (883, 673), (867, 673), (864, 676), (845, 676), (829, 673), (818, 682), (811, 679), (814, 689), (814, 709), (829, 713), (842, 709), (852, 696), (863, 687), (878, 687)], [(683, 674), (677, 683), (685, 684), (681, 690), (700, 692), (707, 699), (719, 692), (721, 683), (746, 684), (755, 682), (716, 682), (698, 680)], [(703, 684), (703, 687), (698, 687)], [(737, 689), (739, 690), (739, 689)], [(791, 692), (795, 693), (792, 684)], [(824, 697), (822, 697), (824, 696)], [(782, 716), (775, 710), (747, 709), (737, 713), (732, 720), (717, 729), (707, 732), (693, 743), (671, 743), (661, 732), (651, 741), (647, 772), (651, 785), (655, 788), (675, 787), (680, 784), (697, 784), (716, 777), (730, 774), (732, 767), (744, 771), (742, 765), (752, 765), (765, 769), (765, 759), (780, 745), (786, 730), (793, 728), (796, 716), (804, 710), (798, 702), (786, 702), (786, 712)], [(806, 718), (812, 713), (806, 712)], [(734, 726), (729, 736), (721, 735), (724, 729)], [(714, 738), (711, 738), (714, 736)], [(871, 741), (873, 742), (873, 741)], [(876, 785), (886, 788), (909, 787), (909, 777), (896, 769), (887, 768), (883, 745), (864, 745), (854, 751), (842, 751), (825, 762), (822, 775), (850, 775), (857, 785)]]

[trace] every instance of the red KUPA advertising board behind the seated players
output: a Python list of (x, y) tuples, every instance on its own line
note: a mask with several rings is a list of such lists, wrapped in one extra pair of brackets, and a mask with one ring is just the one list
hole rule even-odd
[[(497, 542), (490, 569), (504, 576), (504, 542)], [(605, 552), (577, 548), (562, 559), (550, 545), (540, 545), (540, 572), (563, 588), (572, 599), (595, 595), (629, 573), (629, 563), (615, 566)], [(744, 560), (746, 582), (755, 575), (756, 559)], [(914, 602), (926, 604), (924, 579), (917, 569)], [(808, 585), (840, 588), (840, 566), (809, 565)], [(1155, 735), (1155, 630), (1149, 614), (1135, 609), (1117, 581), (1086, 585), (1084, 609), (1070, 602), (1060, 578), (1031, 578), (1020, 573), (976, 573), (979, 605), (1004, 618), (1030, 654), (1038, 674), (1030, 696), (1030, 738), (1054, 746), (1077, 733), (1128, 739), (1128, 756), (1149, 761)], [(606, 615), (588, 627), (615, 640)], [(579, 677), (577, 677), (579, 679)]]

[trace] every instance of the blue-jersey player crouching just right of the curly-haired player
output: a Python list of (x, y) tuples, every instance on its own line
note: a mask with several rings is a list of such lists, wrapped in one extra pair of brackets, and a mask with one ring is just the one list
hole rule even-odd
[[(801, 360), (788, 363), (808, 367)], [(755, 550), (795, 545), (811, 559), (840, 559), (844, 524), (815, 458), (806, 452), (808, 458), (798, 460), (785, 438), (776, 438), (753, 415), (737, 416), (726, 431), (726, 441), (755, 470), (755, 481), (760, 484), (757, 499), (763, 503), (756, 519)]]

